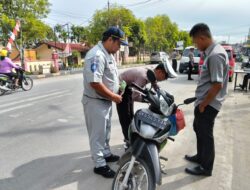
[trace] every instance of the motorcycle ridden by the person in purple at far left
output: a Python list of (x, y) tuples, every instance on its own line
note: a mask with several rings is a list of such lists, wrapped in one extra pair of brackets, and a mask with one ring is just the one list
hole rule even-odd
[(12, 92), (19, 88), (22, 88), (24, 91), (32, 89), (32, 78), (26, 76), (23, 69), (18, 69), (18, 71), (20, 72), (20, 78), (17, 87), (15, 85), (15, 78), (10, 78), (5, 74), (0, 74), (0, 96), (5, 94), (6, 92)]

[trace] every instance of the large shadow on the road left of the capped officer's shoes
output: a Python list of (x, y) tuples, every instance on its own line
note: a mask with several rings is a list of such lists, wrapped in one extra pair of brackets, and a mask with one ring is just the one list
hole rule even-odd
[[(12, 177), (0, 179), (0, 189), (111, 189), (112, 179), (95, 175), (93, 167), (89, 151), (39, 158), (15, 168)], [(111, 168), (117, 169), (116, 164)]]

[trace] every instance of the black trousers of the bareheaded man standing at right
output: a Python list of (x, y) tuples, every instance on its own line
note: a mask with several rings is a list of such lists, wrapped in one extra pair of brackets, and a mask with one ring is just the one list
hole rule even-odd
[(203, 113), (200, 113), (199, 106), (194, 110), (194, 131), (197, 138), (197, 158), (201, 166), (209, 171), (213, 170), (215, 148), (214, 148), (214, 120), (218, 111), (207, 106)]

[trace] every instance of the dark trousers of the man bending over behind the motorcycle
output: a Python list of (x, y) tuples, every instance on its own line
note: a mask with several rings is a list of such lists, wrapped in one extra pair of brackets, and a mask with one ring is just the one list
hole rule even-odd
[(134, 117), (134, 102), (132, 100), (132, 90), (129, 86), (126, 87), (122, 95), (122, 102), (116, 104), (119, 121), (122, 127), (124, 140), (128, 140), (128, 129)]

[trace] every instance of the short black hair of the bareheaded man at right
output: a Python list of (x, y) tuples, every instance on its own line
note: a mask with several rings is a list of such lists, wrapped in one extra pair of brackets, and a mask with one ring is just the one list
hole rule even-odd
[(190, 37), (196, 37), (196, 36), (206, 36), (208, 38), (212, 38), (212, 34), (210, 32), (210, 29), (208, 25), (205, 23), (198, 23), (193, 26), (193, 28), (189, 32)]

